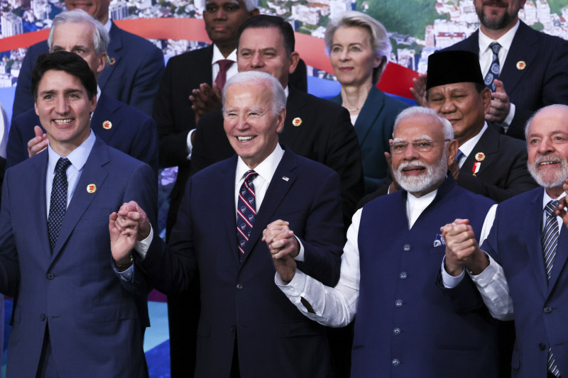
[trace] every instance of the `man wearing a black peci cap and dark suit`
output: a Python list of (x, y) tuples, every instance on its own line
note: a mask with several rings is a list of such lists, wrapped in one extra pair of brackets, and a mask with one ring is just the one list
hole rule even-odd
[(473, 52), (430, 55), (426, 99), (430, 109), (452, 123), (459, 152), (449, 170), (460, 187), (497, 202), (537, 187), (527, 170), (525, 143), (499, 134), (485, 121), (491, 90), (484, 86)]

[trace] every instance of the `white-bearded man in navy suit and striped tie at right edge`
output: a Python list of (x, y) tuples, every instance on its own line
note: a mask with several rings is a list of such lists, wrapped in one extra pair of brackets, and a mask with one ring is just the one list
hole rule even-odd
[[(499, 204), (481, 248), (475, 240), (478, 233), (465, 221), (457, 219), (442, 228), (445, 268), (457, 276), (454, 282), (464, 276), (464, 267), (474, 270), (487, 306), (514, 304), (514, 311), (512, 305), (504, 306), (501, 316), (515, 320), (515, 378), (568, 374), (568, 230), (562, 226), (564, 222), (568, 227), (567, 118), (568, 106), (551, 105), (528, 121), (528, 169), (541, 187)], [(498, 264), (508, 290), (502, 290), (503, 282), (494, 274), (501, 269)]]

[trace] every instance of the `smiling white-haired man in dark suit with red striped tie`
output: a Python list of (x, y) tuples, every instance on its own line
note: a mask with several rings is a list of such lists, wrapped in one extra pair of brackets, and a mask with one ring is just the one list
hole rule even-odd
[[(136, 268), (166, 293), (187, 289), (200, 271), (196, 377), (331, 374), (325, 328), (304, 318), (275, 287), (263, 242), (285, 248), (322, 282), (339, 279), (339, 177), (278, 144), (285, 101), (278, 80), (264, 72), (231, 77), (224, 128), (237, 155), (190, 177), (169, 248), (148, 237), (149, 249), (134, 252)], [(134, 203), (125, 204), (109, 227), (120, 236), (137, 228), (138, 240), (149, 243), (150, 226)], [(134, 241), (124, 248), (119, 237), (111, 243), (116, 260), (129, 260)]]

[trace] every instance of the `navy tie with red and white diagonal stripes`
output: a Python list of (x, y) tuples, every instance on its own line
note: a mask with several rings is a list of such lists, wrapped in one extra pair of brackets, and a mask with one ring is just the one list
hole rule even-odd
[(236, 236), (239, 240), (239, 259), (244, 255), (246, 242), (253, 230), (256, 218), (256, 196), (253, 179), (258, 175), (253, 169), (245, 173), (244, 182), (239, 190), (239, 201), (236, 203)]

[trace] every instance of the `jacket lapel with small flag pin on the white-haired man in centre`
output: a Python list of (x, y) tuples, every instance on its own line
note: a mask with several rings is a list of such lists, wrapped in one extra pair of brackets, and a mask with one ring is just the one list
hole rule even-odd
[(284, 151), (282, 160), (280, 160), (280, 164), (278, 164), (278, 167), (272, 177), (271, 184), (268, 185), (261, 208), (256, 214), (256, 220), (254, 221), (254, 227), (251, 232), (251, 236), (249, 237), (249, 242), (246, 243), (243, 265), (249, 255), (251, 255), (251, 251), (256, 243), (259, 243), (259, 240), (261, 240), (264, 228), (268, 226), (268, 222), (271, 221), (271, 218), (278, 209), (278, 206), (280, 206), (280, 203), (282, 203), (282, 200), (296, 180), (296, 175), (293, 173), (293, 169), (295, 169), (297, 162), (295, 157), (290, 155), (290, 152), (288, 151), (289, 150)]

